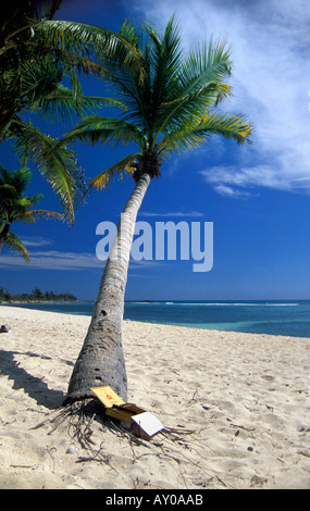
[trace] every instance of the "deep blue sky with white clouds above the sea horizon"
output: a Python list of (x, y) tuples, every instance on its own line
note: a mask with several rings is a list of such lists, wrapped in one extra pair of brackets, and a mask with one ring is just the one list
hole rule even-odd
[[(307, 0), (64, 0), (59, 18), (85, 21), (117, 30), (125, 17), (149, 21), (162, 30), (173, 13), (185, 51), (211, 34), (233, 47), (232, 99), (222, 105), (255, 124), (250, 146), (213, 138), (201, 149), (164, 163), (138, 220), (213, 222), (210, 272), (194, 273), (193, 261), (132, 261), (126, 298), (140, 299), (309, 299), (310, 297), (310, 111)], [(85, 91), (101, 84), (83, 80)], [(67, 126), (46, 132), (61, 135)], [(76, 146), (89, 177), (128, 149)], [(0, 163), (16, 169), (5, 144)], [(59, 211), (49, 187), (32, 167), (29, 195), (42, 192), (41, 208)], [(95, 299), (103, 264), (96, 258), (99, 222), (116, 223), (133, 189), (131, 178), (92, 194), (69, 227), (57, 221), (16, 224), (32, 263), (3, 250), (0, 285), (11, 292), (34, 287)]]

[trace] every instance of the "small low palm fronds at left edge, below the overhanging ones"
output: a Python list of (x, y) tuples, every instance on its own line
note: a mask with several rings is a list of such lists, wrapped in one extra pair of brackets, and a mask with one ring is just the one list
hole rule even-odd
[(17, 251), (29, 262), (28, 251), (21, 239), (11, 230), (15, 222), (36, 222), (41, 217), (63, 220), (63, 215), (54, 211), (33, 209), (42, 195), (25, 197), (24, 191), (32, 178), (28, 169), (15, 172), (0, 167), (0, 252), (5, 244), (9, 249)]

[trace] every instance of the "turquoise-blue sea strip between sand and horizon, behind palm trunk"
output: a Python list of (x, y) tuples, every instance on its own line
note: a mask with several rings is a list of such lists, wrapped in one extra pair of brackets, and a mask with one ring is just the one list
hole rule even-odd
[[(94, 302), (16, 307), (90, 316)], [(124, 319), (194, 328), (310, 337), (310, 300), (126, 302)]]

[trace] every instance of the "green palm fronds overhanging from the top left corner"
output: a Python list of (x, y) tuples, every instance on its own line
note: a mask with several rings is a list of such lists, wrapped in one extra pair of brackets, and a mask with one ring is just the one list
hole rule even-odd
[[(0, 21), (0, 141), (14, 140), (22, 165), (34, 160), (73, 223), (86, 189), (75, 153), (25, 121), (25, 114), (66, 122), (102, 105), (120, 105), (113, 98), (84, 96), (79, 75), (110, 76), (106, 63), (115, 59), (139, 64), (129, 37), (52, 20), (60, 4), (61, 0), (10, 0), (5, 5), (7, 16)], [(63, 85), (64, 78), (70, 87)]]

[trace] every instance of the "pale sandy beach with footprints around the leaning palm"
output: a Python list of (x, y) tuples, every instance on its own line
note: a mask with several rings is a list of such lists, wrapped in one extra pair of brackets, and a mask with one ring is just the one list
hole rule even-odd
[(89, 321), (1, 306), (1, 489), (310, 488), (310, 339), (125, 321), (128, 401), (176, 433), (92, 421), (91, 454), (50, 421)]

